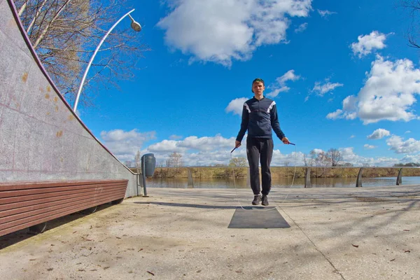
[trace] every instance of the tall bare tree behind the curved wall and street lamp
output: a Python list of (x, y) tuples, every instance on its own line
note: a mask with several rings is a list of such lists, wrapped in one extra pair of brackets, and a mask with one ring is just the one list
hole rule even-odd
[[(69, 101), (99, 41), (128, 10), (125, 0), (15, 0), (15, 5), (39, 59)], [(111, 32), (100, 50), (106, 54), (92, 64), (81, 102), (92, 103), (94, 88), (132, 78), (145, 50), (141, 36), (130, 27)]]

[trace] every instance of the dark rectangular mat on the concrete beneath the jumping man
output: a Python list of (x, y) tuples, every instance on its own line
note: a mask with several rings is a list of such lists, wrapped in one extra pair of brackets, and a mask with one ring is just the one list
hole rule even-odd
[(228, 228), (290, 228), (290, 225), (276, 207), (251, 206), (237, 208)]

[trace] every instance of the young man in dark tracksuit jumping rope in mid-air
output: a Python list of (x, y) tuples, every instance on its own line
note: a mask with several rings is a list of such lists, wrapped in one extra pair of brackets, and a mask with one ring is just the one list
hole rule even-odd
[[(244, 103), (242, 109), (241, 130), (235, 141), (235, 148), (241, 146), (246, 130), (246, 155), (249, 163), (251, 188), (254, 194), (253, 205), (268, 205), (267, 195), (271, 189), (271, 172), (269, 165), (273, 155), (272, 130), (283, 144), (290, 144), (280, 129), (277, 116), (276, 102), (263, 96), (265, 90), (264, 80), (256, 78), (252, 82), (251, 90), (254, 97)], [(262, 192), (260, 188), (260, 172), (258, 161), (261, 162)], [(262, 193), (262, 197), (260, 196)]]

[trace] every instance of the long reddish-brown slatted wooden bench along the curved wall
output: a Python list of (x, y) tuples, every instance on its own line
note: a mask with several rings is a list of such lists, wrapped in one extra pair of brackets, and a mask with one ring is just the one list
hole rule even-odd
[(46, 222), (101, 204), (123, 202), (128, 180), (0, 183), (0, 236), (29, 228), (43, 232)]

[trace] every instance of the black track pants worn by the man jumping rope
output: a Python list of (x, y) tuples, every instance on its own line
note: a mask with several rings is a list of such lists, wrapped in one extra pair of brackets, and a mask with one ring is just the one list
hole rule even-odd
[(246, 138), (246, 155), (248, 156), (249, 175), (254, 195), (259, 195), (261, 191), (258, 161), (261, 163), (262, 195), (268, 195), (271, 189), (269, 165), (273, 156), (273, 147), (273, 139)]

